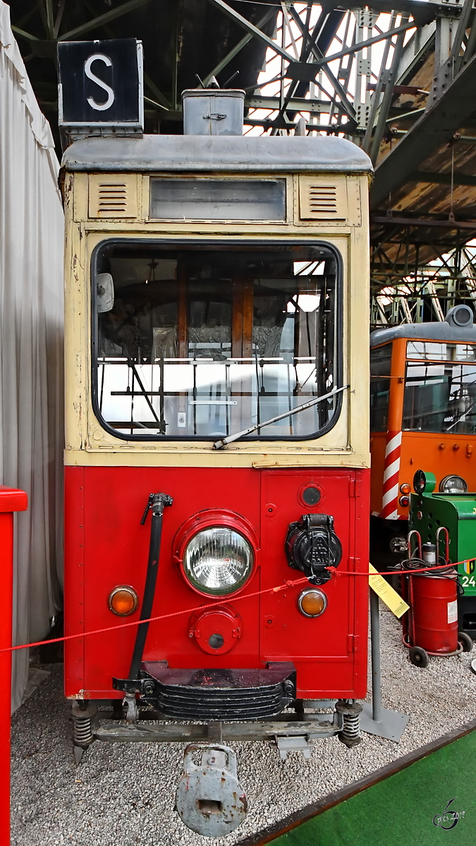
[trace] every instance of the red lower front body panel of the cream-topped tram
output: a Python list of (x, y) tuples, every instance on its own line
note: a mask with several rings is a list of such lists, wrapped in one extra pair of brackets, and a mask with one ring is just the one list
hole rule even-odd
[[(260, 668), (268, 662), (296, 666), (299, 698), (362, 698), (367, 689), (369, 470), (254, 470), (240, 468), (67, 467), (65, 470), (66, 634), (111, 627), (65, 643), (67, 696), (120, 698), (112, 678), (127, 678), (147, 570), (150, 517), (141, 516), (150, 492), (174, 497), (163, 516), (158, 582), (144, 661), (169, 667)], [(308, 506), (302, 492), (318, 486)], [(356, 496), (357, 494), (357, 496)], [(252, 575), (236, 596), (220, 599), (240, 636), (228, 651), (210, 654), (191, 635), (196, 609), (214, 602), (191, 589), (177, 561), (180, 531), (207, 509), (224, 509), (251, 527)], [(323, 586), (328, 604), (318, 618), (298, 610), (306, 585), (273, 591), (302, 577), (285, 557), (288, 525), (302, 514), (329, 514), (342, 545), (339, 575)], [(115, 616), (108, 596), (131, 585), (140, 602), (128, 618)], [(224, 617), (224, 624), (227, 623)], [(225, 633), (226, 634), (226, 633)]]

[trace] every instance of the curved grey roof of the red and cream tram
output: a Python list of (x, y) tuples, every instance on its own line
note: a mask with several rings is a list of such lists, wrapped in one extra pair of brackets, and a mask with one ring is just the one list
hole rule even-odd
[(142, 135), (86, 138), (64, 151), (69, 171), (372, 173), (345, 138), (300, 135)]

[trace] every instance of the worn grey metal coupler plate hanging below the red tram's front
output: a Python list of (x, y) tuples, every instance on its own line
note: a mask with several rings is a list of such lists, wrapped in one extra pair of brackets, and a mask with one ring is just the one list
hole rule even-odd
[[(200, 766), (194, 755), (201, 756)], [(219, 744), (187, 746), (176, 804), (181, 821), (198, 834), (221, 838), (240, 826), (247, 808), (235, 752)]]

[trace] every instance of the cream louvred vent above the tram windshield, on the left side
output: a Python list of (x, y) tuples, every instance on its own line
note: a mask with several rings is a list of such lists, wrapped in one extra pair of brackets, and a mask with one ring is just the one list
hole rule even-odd
[(92, 174), (89, 178), (89, 217), (137, 217), (137, 179)]

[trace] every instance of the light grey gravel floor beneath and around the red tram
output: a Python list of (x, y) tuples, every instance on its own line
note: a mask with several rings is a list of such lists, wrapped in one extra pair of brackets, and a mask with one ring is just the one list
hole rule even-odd
[(384, 766), (476, 717), (471, 656), (432, 658), (413, 667), (401, 646), (400, 624), (380, 607), (383, 705), (410, 714), (400, 744), (363, 734), (347, 750), (337, 739), (318, 740), (313, 755), (280, 762), (268, 744), (235, 744), (249, 813), (226, 838), (191, 832), (174, 811), (181, 774), (177, 744), (93, 744), (75, 766), (69, 706), (60, 665), (17, 711), (12, 725), (12, 846), (144, 846), (210, 843), (228, 846), (321, 796)]

